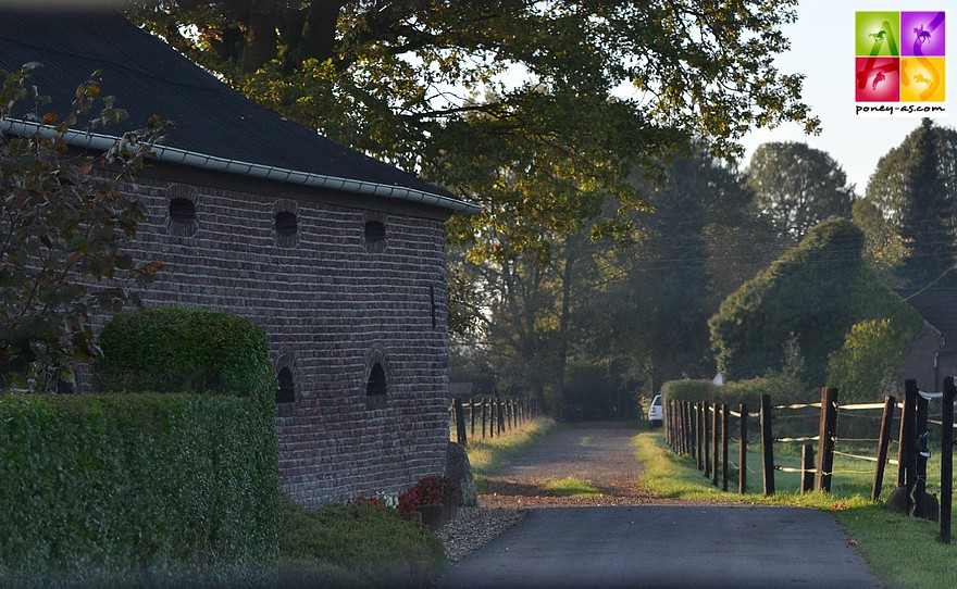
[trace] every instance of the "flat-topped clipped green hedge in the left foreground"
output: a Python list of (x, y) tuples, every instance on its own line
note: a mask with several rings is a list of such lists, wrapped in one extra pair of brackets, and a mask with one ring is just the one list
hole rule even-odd
[(274, 566), (263, 426), (250, 398), (0, 398), (0, 586)]

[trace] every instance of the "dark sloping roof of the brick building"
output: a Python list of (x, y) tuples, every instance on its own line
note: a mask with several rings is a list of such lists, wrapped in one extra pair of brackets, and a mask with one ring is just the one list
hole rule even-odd
[(115, 96), (117, 106), (129, 114), (125, 126), (112, 133), (144, 126), (153, 114), (172, 121), (175, 127), (164, 146), (186, 165), (210, 167), (202, 162), (212, 156), (219, 163), (243, 164), (221, 171), (243, 174), (252, 168), (245, 164), (254, 164), (259, 174), (250, 175), (270, 179), (332, 178), (336, 181), (320, 185), (451, 210), (476, 209), (247, 100), (115, 12), (0, 11), (0, 70), (20, 70), (28, 62), (42, 64), (32, 79), (52, 99), (49, 109), (59, 113), (69, 112), (76, 87), (101, 71), (103, 93)]

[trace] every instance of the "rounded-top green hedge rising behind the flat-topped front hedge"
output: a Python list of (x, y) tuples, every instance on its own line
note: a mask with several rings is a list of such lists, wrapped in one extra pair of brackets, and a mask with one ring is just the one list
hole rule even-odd
[(275, 399), (265, 333), (237, 315), (176, 306), (124, 312), (103, 326), (99, 346), (97, 390), (262, 394), (269, 406)]

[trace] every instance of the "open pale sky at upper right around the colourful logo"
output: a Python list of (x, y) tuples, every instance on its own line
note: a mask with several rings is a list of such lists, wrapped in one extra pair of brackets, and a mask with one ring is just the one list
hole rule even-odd
[[(819, 136), (807, 136), (797, 124), (782, 125), (749, 134), (743, 141), (746, 149), (745, 164), (754, 150), (768, 141), (803, 141), (812, 148), (826, 151), (844, 168), (847, 179), (856, 185), (862, 196), (867, 181), (878, 161), (920, 124), (920, 117), (855, 116), (855, 11), (945, 11), (947, 33), (957, 34), (957, 7), (950, 0), (799, 0), (797, 22), (784, 30), (791, 39), (791, 51), (780, 55), (775, 63), (785, 73), (806, 76), (804, 102), (811, 106), (821, 120), (823, 130)], [(957, 43), (947, 41), (946, 65), (947, 108), (950, 117), (935, 118), (941, 126), (957, 125), (957, 77), (950, 49)], [(955, 49), (957, 51), (957, 49)], [(955, 55), (957, 57), (957, 55)]]

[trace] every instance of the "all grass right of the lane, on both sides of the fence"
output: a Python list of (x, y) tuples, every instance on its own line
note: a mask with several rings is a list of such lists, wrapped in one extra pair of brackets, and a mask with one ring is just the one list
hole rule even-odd
[[(947, 546), (936, 541), (940, 532), (939, 524), (887, 513), (883, 509), (883, 503), (871, 501), (873, 463), (835, 456), (835, 476), (830, 493), (799, 494), (796, 492), (799, 475), (776, 472), (775, 489), (779, 492), (765, 497), (759, 492), (760, 455), (751, 458), (749, 454), (748, 493), (742, 496), (736, 492), (736, 473), (731, 479), (734, 483), (729, 481), (729, 487), (733, 488), (734, 492), (716, 489), (698, 471), (695, 461), (688, 456), (678, 456), (664, 446), (661, 433), (639, 434), (633, 438), (633, 442), (638, 459), (645, 465), (642, 485), (662, 497), (745, 501), (826, 510), (832, 512), (837, 522), (844, 526), (850, 541), (856, 544), (871, 569), (888, 589), (932, 589), (954, 585), (955, 571), (957, 571), (957, 544)], [(863, 455), (872, 453), (863, 451), (866, 448), (861, 450), (860, 453)], [(756, 447), (755, 453), (757, 451)], [(775, 464), (788, 464), (795, 454), (797, 460), (788, 465), (797, 466), (800, 462), (797, 450), (779, 451), (775, 446)], [(733, 460), (736, 462), (737, 459)], [(932, 473), (934, 468), (932, 461), (928, 472)], [(936, 472), (940, 472), (939, 465), (936, 468)], [(757, 472), (753, 473), (751, 469)], [(850, 472), (836, 475), (842, 469)], [(896, 469), (888, 467), (884, 475), (885, 490), (893, 488), (895, 478)], [(886, 497), (886, 492), (883, 497)], [(812, 547), (808, 548), (812, 549)]]

